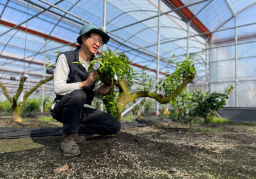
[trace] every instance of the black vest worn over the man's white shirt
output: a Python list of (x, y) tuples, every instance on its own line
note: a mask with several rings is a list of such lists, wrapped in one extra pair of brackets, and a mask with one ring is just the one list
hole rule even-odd
[[(68, 74), (67, 83), (86, 81), (86, 79), (88, 78), (88, 75), (92, 73), (92, 72), (86, 72), (86, 69), (83, 67), (83, 65), (75, 65), (74, 63), (72, 63), (74, 61), (79, 62), (80, 47), (81, 46), (78, 45), (76, 50), (62, 53), (67, 58), (67, 63), (68, 63), (69, 71), (70, 71)], [(93, 55), (91, 58), (91, 61), (93, 60), (94, 57), (95, 56)], [(58, 58), (56, 59), (56, 63), (57, 63), (57, 60), (58, 60)], [(84, 93), (86, 93), (86, 96), (87, 96), (84, 104), (92, 105), (92, 100), (94, 98), (94, 92), (93, 92), (94, 86), (95, 86), (95, 83), (88, 88), (81, 89), (84, 91)], [(62, 97), (63, 97), (62, 95), (56, 95), (54, 102), (56, 100), (60, 100)]]

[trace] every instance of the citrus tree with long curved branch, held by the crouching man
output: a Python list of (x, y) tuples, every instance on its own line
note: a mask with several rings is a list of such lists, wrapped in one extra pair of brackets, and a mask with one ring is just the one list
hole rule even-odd
[[(160, 104), (168, 104), (193, 80), (196, 74), (193, 62), (187, 58), (182, 63), (175, 63), (176, 70), (173, 73), (166, 72), (168, 76), (159, 80), (156, 88), (153, 89), (152, 77), (144, 72), (134, 74), (129, 60), (124, 58), (124, 54), (116, 56), (115, 51), (110, 49), (108, 52), (102, 52), (102, 56), (93, 60), (89, 68), (99, 74), (101, 82), (111, 86), (109, 93), (102, 98), (102, 102), (104, 102), (107, 112), (119, 121), (127, 103), (136, 98), (149, 97), (156, 99)], [(100, 64), (99, 68), (95, 67), (97, 63)], [(131, 92), (130, 89), (135, 79), (141, 81), (143, 88), (137, 88), (138, 91)], [(157, 89), (163, 90), (164, 95), (158, 94)]]

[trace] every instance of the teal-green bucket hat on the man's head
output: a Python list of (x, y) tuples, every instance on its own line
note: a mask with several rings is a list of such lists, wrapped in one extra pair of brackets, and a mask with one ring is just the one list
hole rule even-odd
[(96, 26), (95, 24), (86, 24), (80, 29), (79, 36), (76, 39), (77, 43), (82, 45), (82, 35), (85, 33), (90, 33), (91, 31), (95, 31), (102, 35), (102, 41), (104, 44), (108, 43), (110, 36), (108, 36), (104, 31), (102, 31), (102, 29), (100, 29), (100, 27)]

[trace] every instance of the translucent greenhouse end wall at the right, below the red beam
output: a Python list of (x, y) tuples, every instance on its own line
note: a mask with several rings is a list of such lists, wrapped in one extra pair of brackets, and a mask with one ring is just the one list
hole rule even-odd
[(252, 42), (253, 38), (255, 36), (237, 38), (237, 106), (235, 40), (226, 39), (221, 40), (222, 42), (213, 40), (213, 43), (210, 43), (209, 81), (211, 91), (224, 92), (230, 84), (235, 87), (227, 100), (227, 107), (256, 106), (256, 51), (253, 49), (256, 42)]

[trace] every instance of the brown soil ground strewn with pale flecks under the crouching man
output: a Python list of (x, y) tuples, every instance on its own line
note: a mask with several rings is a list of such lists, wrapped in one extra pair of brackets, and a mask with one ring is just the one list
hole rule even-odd
[[(10, 126), (6, 120), (0, 127)], [(58, 127), (27, 120), (12, 127)], [(64, 157), (60, 136), (0, 140), (0, 178), (256, 178), (256, 127), (155, 123), (118, 135), (86, 136)], [(68, 164), (68, 171), (52, 171)]]

